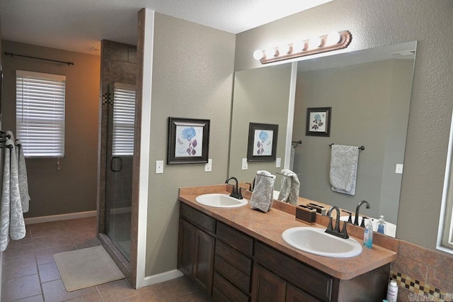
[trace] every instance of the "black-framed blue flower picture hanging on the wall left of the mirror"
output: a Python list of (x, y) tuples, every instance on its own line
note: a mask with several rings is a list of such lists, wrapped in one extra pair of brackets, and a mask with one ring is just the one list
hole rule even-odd
[(167, 164), (206, 163), (210, 120), (168, 118)]

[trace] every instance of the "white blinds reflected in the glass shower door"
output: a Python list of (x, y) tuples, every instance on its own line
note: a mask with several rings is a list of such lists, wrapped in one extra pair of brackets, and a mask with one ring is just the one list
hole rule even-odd
[(113, 156), (134, 155), (135, 86), (113, 89)]

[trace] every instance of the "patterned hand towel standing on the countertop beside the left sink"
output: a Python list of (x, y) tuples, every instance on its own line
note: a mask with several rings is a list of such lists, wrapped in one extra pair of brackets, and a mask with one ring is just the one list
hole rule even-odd
[(250, 198), (251, 208), (263, 212), (270, 211), (273, 204), (275, 175), (268, 171), (256, 172), (255, 187)]

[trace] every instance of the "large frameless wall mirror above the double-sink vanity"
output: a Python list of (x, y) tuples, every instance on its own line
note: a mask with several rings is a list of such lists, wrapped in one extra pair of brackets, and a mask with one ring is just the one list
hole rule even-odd
[[(371, 208), (364, 206), (360, 213), (371, 218), (382, 215), (396, 225), (402, 177), (396, 165), (404, 161), (415, 49), (414, 41), (302, 60), (297, 62), (297, 77), (292, 77), (290, 63), (236, 72), (229, 175), (249, 182), (259, 169), (273, 174), (292, 169), (299, 175), (299, 196), (347, 211), (355, 211), (357, 203), (366, 200)], [(292, 97), (294, 106), (289, 105)], [(316, 107), (331, 107), (328, 137), (305, 134), (307, 108)], [(292, 127), (287, 127), (288, 117)], [(249, 162), (248, 169), (242, 169), (250, 122), (280, 125), (281, 168), (276, 162)], [(294, 145), (285, 140), (287, 133), (292, 141), (302, 140), (294, 152)], [(331, 190), (332, 143), (365, 146), (354, 196)], [(280, 182), (277, 175), (275, 189)]]

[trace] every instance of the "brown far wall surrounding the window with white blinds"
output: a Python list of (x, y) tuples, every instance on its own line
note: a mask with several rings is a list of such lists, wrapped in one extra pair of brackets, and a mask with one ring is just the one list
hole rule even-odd
[[(16, 133), (16, 69), (66, 75), (64, 158), (27, 159), (30, 211), (25, 218), (96, 210), (100, 57), (2, 41), (3, 128)], [(4, 52), (74, 62), (74, 66)]]

